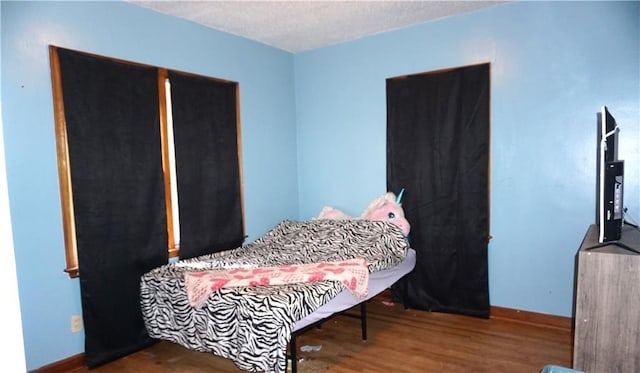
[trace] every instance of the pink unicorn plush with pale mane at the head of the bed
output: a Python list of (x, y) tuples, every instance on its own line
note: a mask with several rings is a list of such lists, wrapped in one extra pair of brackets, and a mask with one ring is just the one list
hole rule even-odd
[(387, 192), (374, 199), (359, 218), (353, 218), (338, 209), (325, 206), (322, 211), (320, 211), (320, 215), (318, 215), (317, 219), (385, 220), (398, 226), (402, 230), (402, 233), (407, 236), (411, 230), (411, 225), (404, 217), (404, 210), (402, 210), (402, 205), (400, 204), (401, 198), (402, 192), (400, 192), (400, 196), (398, 198), (396, 198), (395, 194)]

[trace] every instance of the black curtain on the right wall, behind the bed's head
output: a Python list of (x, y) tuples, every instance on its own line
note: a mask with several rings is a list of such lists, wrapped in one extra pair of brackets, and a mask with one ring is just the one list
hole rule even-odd
[(394, 296), (489, 316), (489, 64), (387, 80), (387, 187), (405, 188), (417, 264)]

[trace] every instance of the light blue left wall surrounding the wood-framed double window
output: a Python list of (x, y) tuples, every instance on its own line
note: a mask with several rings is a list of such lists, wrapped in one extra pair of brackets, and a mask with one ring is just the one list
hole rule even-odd
[(2, 1), (2, 108), (27, 368), (84, 351), (63, 272), (48, 45), (239, 82), (246, 231), (298, 216), (293, 56), (124, 2)]

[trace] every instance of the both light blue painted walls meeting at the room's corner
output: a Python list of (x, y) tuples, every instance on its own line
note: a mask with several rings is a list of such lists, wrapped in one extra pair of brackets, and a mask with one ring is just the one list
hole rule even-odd
[(297, 55), (123, 2), (0, 6), (29, 370), (84, 350), (70, 332), (78, 281), (62, 272), (49, 44), (239, 82), (250, 240), (325, 204), (360, 214), (386, 185), (385, 79), (479, 62), (492, 64), (492, 305), (571, 315), (603, 104), (623, 131), (626, 205), (640, 220), (638, 2), (510, 3)]

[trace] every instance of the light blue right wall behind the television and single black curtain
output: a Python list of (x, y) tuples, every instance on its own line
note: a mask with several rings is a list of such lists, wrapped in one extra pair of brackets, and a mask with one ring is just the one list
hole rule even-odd
[(301, 218), (384, 191), (385, 79), (490, 62), (491, 304), (571, 316), (602, 105), (640, 221), (639, 25), (639, 2), (517, 2), (296, 55)]

